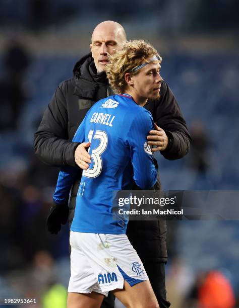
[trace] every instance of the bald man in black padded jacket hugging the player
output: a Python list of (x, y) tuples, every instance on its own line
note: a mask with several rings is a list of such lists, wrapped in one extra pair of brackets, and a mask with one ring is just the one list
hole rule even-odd
[[(120, 49), (125, 40), (125, 30), (116, 22), (105, 21), (96, 26), (91, 38), (91, 53), (76, 63), (73, 78), (57, 87), (35, 133), (34, 149), (44, 163), (57, 167), (80, 167), (78, 179), (72, 188), (69, 207), (68, 204), (53, 204), (50, 208), (47, 226), (52, 234), (57, 234), (61, 224), (65, 224), (68, 218), (71, 225), (81, 172), (82, 169), (87, 169), (91, 162), (86, 151), (89, 143), (80, 144), (70, 140), (91, 106), (113, 94), (104, 67), (108, 63), (107, 55)], [(148, 100), (145, 108), (152, 113), (156, 123), (155, 130), (150, 131), (147, 137), (149, 144), (155, 145), (152, 150), (160, 151), (163, 157), (169, 160), (184, 157), (189, 151), (191, 137), (176, 99), (164, 81), (161, 83), (159, 100)], [(159, 181), (155, 189), (161, 189)], [(169, 307), (164, 272), (167, 261), (166, 222), (130, 221), (127, 235), (144, 263), (160, 308)], [(112, 294), (109, 293), (101, 307), (114, 307)]]

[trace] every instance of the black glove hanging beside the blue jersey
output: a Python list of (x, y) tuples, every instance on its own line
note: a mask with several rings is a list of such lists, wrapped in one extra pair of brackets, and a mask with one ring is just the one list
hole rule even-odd
[(51, 234), (57, 234), (61, 230), (61, 224), (66, 224), (69, 214), (68, 204), (57, 204), (53, 201), (46, 222)]

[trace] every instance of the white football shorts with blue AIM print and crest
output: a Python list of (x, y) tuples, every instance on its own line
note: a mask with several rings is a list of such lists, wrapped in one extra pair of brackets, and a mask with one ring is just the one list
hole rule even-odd
[(148, 280), (143, 263), (125, 234), (71, 231), (71, 278), (68, 292), (108, 295)]

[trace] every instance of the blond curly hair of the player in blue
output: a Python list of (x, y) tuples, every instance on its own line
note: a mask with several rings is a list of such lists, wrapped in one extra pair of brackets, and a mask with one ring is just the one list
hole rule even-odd
[(142, 63), (160, 63), (161, 60), (147, 60), (147, 58), (154, 55), (158, 55), (157, 50), (144, 40), (126, 41), (121, 50), (117, 50), (113, 55), (109, 55), (109, 63), (105, 66), (105, 72), (111, 88), (116, 93), (124, 92), (127, 86), (125, 74), (127, 72), (131, 72), (133, 75), (138, 74), (140, 70), (132, 70)]

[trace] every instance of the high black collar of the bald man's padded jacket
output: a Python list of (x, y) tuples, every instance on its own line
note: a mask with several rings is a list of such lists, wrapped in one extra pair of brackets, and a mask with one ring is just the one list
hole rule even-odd
[(93, 99), (99, 86), (107, 86), (105, 72), (97, 73), (91, 52), (82, 57), (74, 66), (75, 89), (73, 94)]

